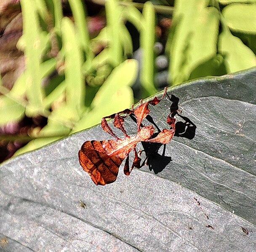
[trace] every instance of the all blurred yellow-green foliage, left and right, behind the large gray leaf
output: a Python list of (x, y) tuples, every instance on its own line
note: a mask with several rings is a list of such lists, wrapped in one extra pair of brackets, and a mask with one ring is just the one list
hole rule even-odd
[[(23, 35), (17, 47), (24, 51), (26, 70), (11, 91), (0, 83), (0, 114), (5, 115), (0, 116), (0, 126), (24, 115), (43, 115), (48, 122), (41, 131), (32, 130), (32, 141), (17, 154), (96, 125), (103, 116), (130, 107), (138, 63), (128, 60), (133, 45), (126, 21), (140, 33), (142, 98), (156, 92), (155, 11), (170, 13), (173, 9), (150, 2), (109, 0), (105, 5), (107, 26), (91, 39), (83, 1), (68, 2), (74, 22), (63, 17), (61, 0), (20, 0)], [(170, 84), (256, 66), (255, 3), (176, 1), (166, 45)], [(94, 55), (101, 45), (104, 50)]]

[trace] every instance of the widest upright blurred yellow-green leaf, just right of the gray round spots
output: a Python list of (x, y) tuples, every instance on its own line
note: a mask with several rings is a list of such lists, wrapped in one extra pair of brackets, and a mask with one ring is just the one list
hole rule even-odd
[[(219, 12), (207, 7), (207, 1), (177, 1), (173, 13), (173, 27), (168, 42), (172, 84), (189, 79), (199, 65), (214, 58), (219, 35)], [(200, 76), (197, 76), (200, 77)]]

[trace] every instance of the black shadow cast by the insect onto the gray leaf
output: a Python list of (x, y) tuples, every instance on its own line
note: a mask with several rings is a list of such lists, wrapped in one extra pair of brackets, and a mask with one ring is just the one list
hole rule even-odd
[[(167, 94), (168, 96), (168, 94)], [(178, 115), (183, 121), (177, 121), (175, 124), (176, 131), (174, 136), (177, 137), (184, 137), (187, 139), (193, 139), (195, 137), (196, 132), (196, 125), (186, 116), (180, 115), (179, 113), (176, 113), (175, 111), (179, 109), (179, 98), (171, 95), (169, 97), (169, 100), (171, 100), (172, 104), (170, 106), (170, 111), (172, 113), (172, 116)], [(136, 122), (136, 118), (131, 115), (130, 116), (133, 121)], [(157, 126), (157, 124), (154, 122), (152, 116), (147, 115), (146, 119), (152, 123), (158, 132), (161, 131), (161, 129)], [(178, 119), (178, 118), (177, 118)], [(157, 136), (158, 133), (155, 133), (153, 136)], [(165, 156), (165, 149), (166, 145), (161, 143), (150, 143), (150, 142), (141, 142), (142, 147), (144, 150), (142, 152), (145, 152), (145, 160), (143, 161), (143, 165), (146, 164), (149, 166), (150, 171), (154, 171), (155, 174), (160, 173), (163, 171), (163, 169), (172, 161), (171, 157)], [(162, 154), (158, 153), (160, 147), (163, 145), (163, 152)]]

